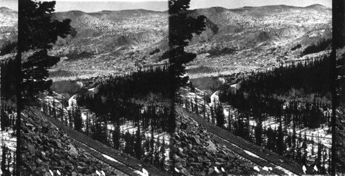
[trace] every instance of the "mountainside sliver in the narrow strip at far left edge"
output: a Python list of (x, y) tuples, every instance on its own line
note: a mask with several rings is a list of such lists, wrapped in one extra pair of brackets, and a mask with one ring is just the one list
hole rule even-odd
[(0, 8), (0, 47), (17, 41), (18, 12), (9, 8)]

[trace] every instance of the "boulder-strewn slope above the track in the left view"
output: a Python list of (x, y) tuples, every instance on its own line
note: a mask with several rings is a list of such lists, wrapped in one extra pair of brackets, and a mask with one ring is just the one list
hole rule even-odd
[(118, 175), (119, 171), (75, 147), (66, 133), (57, 129), (36, 108), (23, 111), (21, 120), (21, 173), (23, 175)]

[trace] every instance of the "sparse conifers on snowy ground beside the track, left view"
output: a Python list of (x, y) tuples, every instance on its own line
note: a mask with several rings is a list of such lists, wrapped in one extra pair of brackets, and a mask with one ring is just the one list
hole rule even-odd
[[(124, 153), (128, 153), (137, 159), (157, 166), (161, 169), (167, 169), (167, 156), (164, 155), (166, 150), (170, 148), (169, 142), (165, 137), (155, 137), (154, 129), (144, 129), (141, 124), (137, 124), (137, 129), (132, 133), (121, 129), (120, 126), (114, 125), (113, 129), (107, 129), (107, 121), (104, 117), (99, 117), (95, 113), (86, 113), (86, 120), (81, 118), (81, 107), (75, 106), (72, 109), (63, 113), (55, 106), (56, 102), (43, 103), (43, 112), (59, 119), (66, 126), (84, 133), (94, 140), (106, 144)], [(146, 118), (149, 119), (149, 118)], [(121, 124), (125, 121), (121, 120)], [(141, 123), (141, 122), (139, 122)], [(145, 122), (146, 124), (149, 122)], [(150, 134), (145, 134), (144, 131), (150, 131)]]

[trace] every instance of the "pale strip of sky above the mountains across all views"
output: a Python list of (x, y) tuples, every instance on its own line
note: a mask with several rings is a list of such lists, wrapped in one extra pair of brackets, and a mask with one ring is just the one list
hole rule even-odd
[[(49, 0), (44, 0), (49, 1)], [(168, 10), (168, 0), (55, 0), (57, 12), (69, 10), (81, 10), (83, 12), (99, 12), (101, 10), (128, 10), (146, 9), (155, 11)], [(190, 9), (196, 8), (242, 8), (243, 6), (263, 5), (293, 5), (305, 7), (319, 3), (328, 8), (332, 6), (332, 0), (191, 0)], [(17, 10), (17, 0), (0, 0), (0, 6)]]

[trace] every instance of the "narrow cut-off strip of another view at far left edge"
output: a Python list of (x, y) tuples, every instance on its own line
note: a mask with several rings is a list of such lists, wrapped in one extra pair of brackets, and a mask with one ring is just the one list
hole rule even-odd
[(17, 175), (18, 1), (0, 1), (0, 175)]

